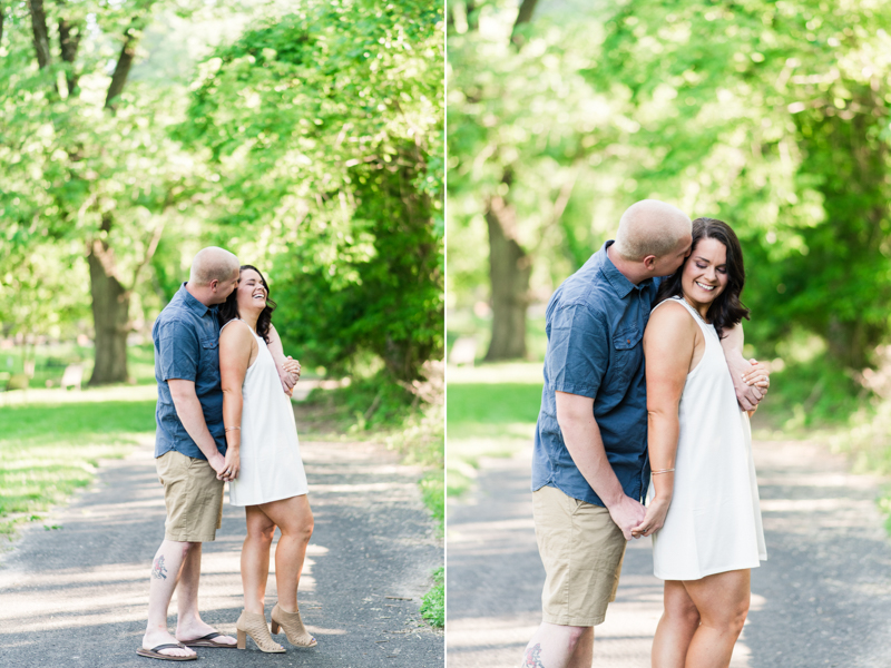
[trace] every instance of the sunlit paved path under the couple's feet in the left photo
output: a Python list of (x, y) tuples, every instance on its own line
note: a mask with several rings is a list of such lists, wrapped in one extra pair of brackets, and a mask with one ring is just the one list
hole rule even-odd
[[(315, 532), (300, 607), (313, 649), (265, 655), (198, 648), (205, 667), (376, 668), (443, 666), (443, 635), (423, 623), (420, 600), (442, 544), (424, 509), (418, 469), (369, 443), (302, 442)], [(226, 502), (217, 540), (205, 543), (199, 606), (235, 635), (243, 608), (238, 559), (244, 511)], [(0, 556), (0, 666), (159, 668), (136, 655), (145, 631), (148, 573), (164, 537), (164, 495), (150, 444), (102, 465), (96, 484)], [(277, 534), (276, 534), (277, 540)], [(273, 561), (274, 570), (274, 561)], [(400, 600), (401, 597), (410, 600)], [(266, 615), (275, 603), (270, 573)], [(176, 602), (169, 626), (176, 623)]]

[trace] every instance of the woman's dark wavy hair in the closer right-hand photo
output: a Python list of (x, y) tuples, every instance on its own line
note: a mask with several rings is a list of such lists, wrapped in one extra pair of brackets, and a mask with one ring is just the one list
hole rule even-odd
[[(693, 250), (702, 239), (716, 239), (727, 249), (727, 287), (724, 288), (708, 307), (706, 317), (717, 330), (718, 336), (724, 337), (724, 330), (738, 325), (743, 318), (748, 320), (748, 308), (743, 306), (740, 296), (745, 286), (745, 267), (743, 267), (743, 248), (736, 233), (730, 225), (716, 218), (696, 218), (693, 222), (693, 245), (691, 254), (678, 269), (665, 278), (656, 294), (656, 304), (669, 297), (683, 297), (681, 276), (684, 267), (693, 257)], [(654, 306), (656, 305), (654, 304)]]

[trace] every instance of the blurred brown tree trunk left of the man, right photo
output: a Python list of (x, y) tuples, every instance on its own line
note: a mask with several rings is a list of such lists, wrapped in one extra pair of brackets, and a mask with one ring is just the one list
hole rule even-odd
[(492, 340), (486, 361), (526, 357), (526, 308), (529, 304), (529, 255), (517, 243), (516, 213), (502, 197), (486, 210), (489, 227), (489, 281), (492, 288)]

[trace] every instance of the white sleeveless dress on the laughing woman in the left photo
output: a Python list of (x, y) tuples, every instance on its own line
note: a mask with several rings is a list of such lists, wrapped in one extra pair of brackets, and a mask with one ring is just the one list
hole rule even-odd
[(266, 342), (252, 333), (260, 354), (247, 367), (242, 385), (241, 471), (229, 482), (232, 505), (257, 505), (300, 497), (309, 490), (291, 400), (282, 390)]

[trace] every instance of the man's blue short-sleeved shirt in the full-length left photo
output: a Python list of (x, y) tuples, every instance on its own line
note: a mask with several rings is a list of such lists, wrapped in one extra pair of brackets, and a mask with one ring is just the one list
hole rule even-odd
[(216, 306), (208, 308), (186, 291), (184, 283), (164, 307), (151, 327), (155, 341), (155, 380), (158, 406), (155, 409), (155, 456), (176, 450), (196, 459), (207, 458), (179, 421), (167, 381), (194, 381), (204, 411), (204, 421), (226, 453), (223, 426), (223, 387), (219, 382), (219, 321)]

